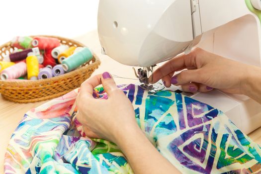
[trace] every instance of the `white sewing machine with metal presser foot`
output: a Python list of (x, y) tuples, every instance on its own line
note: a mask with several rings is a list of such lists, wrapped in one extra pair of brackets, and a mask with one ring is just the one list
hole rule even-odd
[[(145, 67), (137, 76), (148, 90), (153, 65), (194, 46), (261, 67), (257, 9), (261, 0), (100, 0), (102, 52), (122, 64)], [(247, 96), (213, 90), (191, 97), (219, 108), (245, 133), (261, 126), (261, 105)]]

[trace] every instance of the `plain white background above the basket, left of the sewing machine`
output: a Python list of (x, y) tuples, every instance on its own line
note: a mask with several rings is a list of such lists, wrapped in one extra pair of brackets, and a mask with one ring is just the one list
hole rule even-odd
[(74, 38), (97, 28), (98, 0), (1, 0), (0, 45), (14, 36)]

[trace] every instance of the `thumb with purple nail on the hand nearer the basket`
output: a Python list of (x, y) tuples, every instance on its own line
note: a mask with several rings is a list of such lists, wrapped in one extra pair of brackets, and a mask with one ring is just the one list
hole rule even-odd
[(101, 83), (108, 95), (111, 95), (114, 90), (118, 90), (115, 81), (108, 72), (102, 74)]

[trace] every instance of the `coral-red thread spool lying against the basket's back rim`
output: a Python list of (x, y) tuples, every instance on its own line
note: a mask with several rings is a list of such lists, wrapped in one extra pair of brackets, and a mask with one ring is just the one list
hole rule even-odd
[(35, 37), (32, 40), (32, 46), (40, 50), (50, 50), (60, 46), (60, 41), (52, 37)]

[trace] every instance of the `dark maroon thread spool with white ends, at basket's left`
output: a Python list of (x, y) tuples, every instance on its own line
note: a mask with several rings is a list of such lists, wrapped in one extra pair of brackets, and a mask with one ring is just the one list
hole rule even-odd
[(39, 48), (30, 48), (20, 52), (12, 53), (10, 55), (6, 55), (3, 57), (3, 61), (5, 62), (17, 62), (22, 61), (27, 58), (28, 53), (33, 52), (34, 55), (40, 55)]

